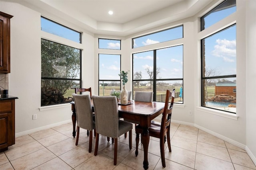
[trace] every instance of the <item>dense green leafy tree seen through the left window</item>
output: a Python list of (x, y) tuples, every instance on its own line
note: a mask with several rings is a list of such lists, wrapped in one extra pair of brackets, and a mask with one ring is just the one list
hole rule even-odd
[(55, 88), (65, 94), (75, 84), (74, 80), (65, 79), (80, 76), (79, 49), (42, 39), (41, 61), (41, 87)]

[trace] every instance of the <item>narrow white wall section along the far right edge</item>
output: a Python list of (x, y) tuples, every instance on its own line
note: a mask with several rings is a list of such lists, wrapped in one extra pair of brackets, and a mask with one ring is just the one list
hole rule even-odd
[(246, 100), (246, 146), (247, 152), (254, 155), (254, 164), (256, 164), (256, 1), (246, 1), (246, 81), (244, 99)]

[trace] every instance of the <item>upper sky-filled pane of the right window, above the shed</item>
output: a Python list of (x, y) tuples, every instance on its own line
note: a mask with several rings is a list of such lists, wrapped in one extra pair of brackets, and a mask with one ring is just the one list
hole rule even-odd
[(203, 77), (236, 74), (236, 25), (202, 40)]

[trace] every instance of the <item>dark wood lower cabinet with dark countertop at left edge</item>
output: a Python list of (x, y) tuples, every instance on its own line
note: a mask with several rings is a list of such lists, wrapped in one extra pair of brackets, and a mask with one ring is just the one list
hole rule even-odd
[(15, 99), (0, 100), (0, 151), (15, 144)]

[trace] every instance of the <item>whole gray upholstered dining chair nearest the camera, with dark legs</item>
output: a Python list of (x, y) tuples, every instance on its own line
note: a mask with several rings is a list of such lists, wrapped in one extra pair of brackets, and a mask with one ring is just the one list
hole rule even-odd
[(132, 149), (132, 123), (118, 118), (118, 104), (116, 96), (92, 96), (95, 122), (96, 143), (94, 155), (98, 154), (99, 134), (114, 138), (114, 165), (117, 162), (118, 137), (129, 131), (129, 148)]

